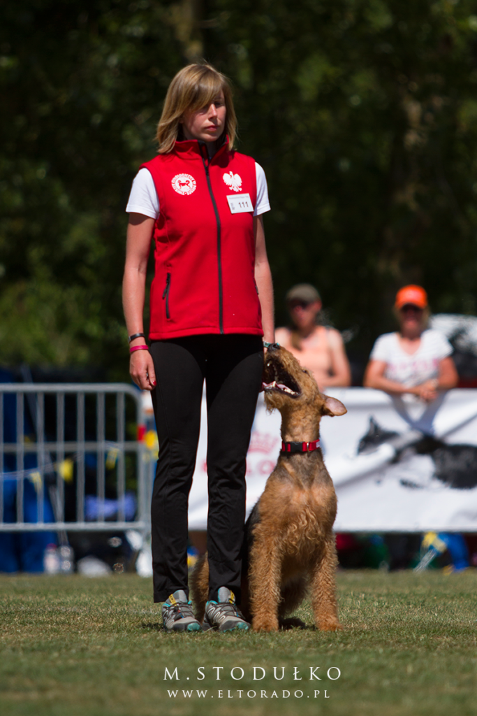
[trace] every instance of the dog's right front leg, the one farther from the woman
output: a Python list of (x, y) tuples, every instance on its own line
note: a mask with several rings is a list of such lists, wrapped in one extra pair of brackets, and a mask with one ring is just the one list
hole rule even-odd
[(325, 541), (323, 557), (316, 564), (311, 579), (311, 602), (315, 624), (323, 632), (335, 632), (342, 628), (338, 621), (336, 603), (337, 566), (335, 536), (332, 534)]

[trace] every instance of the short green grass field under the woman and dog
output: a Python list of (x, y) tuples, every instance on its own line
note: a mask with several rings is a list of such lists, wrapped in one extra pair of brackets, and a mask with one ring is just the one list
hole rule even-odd
[[(337, 634), (189, 635), (159, 630), (148, 579), (3, 576), (0, 714), (476, 714), (476, 570), (341, 572), (338, 589)], [(298, 614), (311, 624), (308, 605)], [(180, 680), (164, 680), (166, 667)], [(254, 680), (253, 667), (265, 677)], [(285, 667), (283, 679), (273, 667), (277, 677)]]

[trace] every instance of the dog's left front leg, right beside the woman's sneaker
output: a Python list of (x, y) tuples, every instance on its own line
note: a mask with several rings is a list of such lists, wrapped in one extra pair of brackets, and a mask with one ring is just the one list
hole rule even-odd
[(275, 544), (261, 539), (255, 530), (250, 554), (250, 611), (255, 632), (278, 631), (280, 602), (280, 555)]

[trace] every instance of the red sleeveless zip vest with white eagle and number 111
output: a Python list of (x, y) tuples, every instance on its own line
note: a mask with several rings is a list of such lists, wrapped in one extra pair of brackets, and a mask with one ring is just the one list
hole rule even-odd
[(249, 193), (255, 206), (255, 161), (227, 142), (209, 160), (202, 142), (187, 140), (142, 167), (159, 198), (149, 338), (262, 336), (252, 211), (232, 214), (227, 202)]

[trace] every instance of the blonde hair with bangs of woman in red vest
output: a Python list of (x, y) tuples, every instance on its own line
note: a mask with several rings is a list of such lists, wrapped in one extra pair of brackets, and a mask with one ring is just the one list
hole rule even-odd
[(229, 80), (225, 74), (217, 72), (217, 69), (210, 64), (188, 64), (177, 72), (167, 89), (156, 132), (159, 154), (170, 152), (174, 147), (182, 117), (210, 105), (220, 91), (224, 93), (227, 110), (223, 133), (229, 136), (229, 148), (232, 149), (237, 136), (237, 117)]

